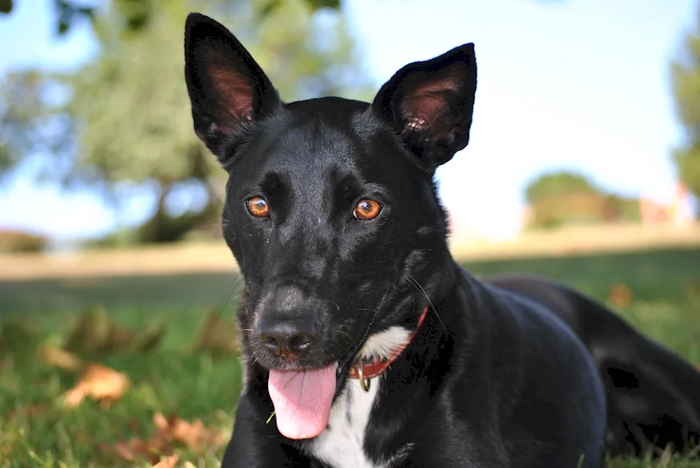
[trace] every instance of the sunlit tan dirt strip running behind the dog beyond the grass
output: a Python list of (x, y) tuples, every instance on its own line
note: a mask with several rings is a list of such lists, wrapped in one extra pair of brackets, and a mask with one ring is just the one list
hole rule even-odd
[[(636, 225), (578, 227), (560, 232), (526, 234), (513, 241), (453, 241), (451, 250), (458, 260), (469, 262), (673, 246), (700, 246), (700, 225), (687, 229), (643, 228)], [(0, 281), (236, 270), (236, 262), (223, 242), (53, 255), (0, 255)]]

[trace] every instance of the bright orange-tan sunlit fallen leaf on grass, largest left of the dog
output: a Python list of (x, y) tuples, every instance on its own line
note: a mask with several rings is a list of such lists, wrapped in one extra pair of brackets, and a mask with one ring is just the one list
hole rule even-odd
[(78, 406), (85, 397), (102, 400), (109, 404), (120, 399), (129, 388), (129, 377), (102, 364), (89, 364), (85, 367), (78, 384), (63, 395), (64, 406)]

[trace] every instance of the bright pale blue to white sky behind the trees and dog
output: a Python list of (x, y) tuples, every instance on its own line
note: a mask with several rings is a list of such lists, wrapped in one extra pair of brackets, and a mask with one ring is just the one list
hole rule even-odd
[[(0, 43), (12, 44), (0, 52), (0, 74), (66, 69), (94, 53), (87, 28), (56, 41), (50, 0), (15, 3), (13, 16), (0, 17)], [(408, 62), (475, 43), (470, 145), (437, 173), (463, 232), (517, 232), (525, 185), (551, 169), (584, 171), (622, 194), (671, 197), (670, 153), (682, 132), (669, 63), (694, 26), (696, 1), (348, 0), (345, 10), (377, 85)], [(117, 222), (87, 192), (21, 177), (0, 189), (0, 227), (70, 239)]]

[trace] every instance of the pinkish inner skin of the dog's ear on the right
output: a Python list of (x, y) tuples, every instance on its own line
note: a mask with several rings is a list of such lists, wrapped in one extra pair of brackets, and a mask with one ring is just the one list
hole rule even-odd
[(451, 76), (430, 81), (408, 93), (401, 104), (405, 116), (405, 130), (422, 130), (430, 127), (449, 111), (445, 92), (456, 92), (457, 81)]

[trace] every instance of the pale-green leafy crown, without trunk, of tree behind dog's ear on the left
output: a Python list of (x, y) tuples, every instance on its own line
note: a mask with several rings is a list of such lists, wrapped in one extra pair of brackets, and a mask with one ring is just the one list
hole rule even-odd
[[(125, 10), (133, 5), (128, 9), (132, 18), (142, 3), (120, 1), (116, 6)], [(126, 38), (122, 15), (110, 12), (96, 19), (102, 55), (71, 80), (76, 92), (69, 108), (81, 124), (80, 164), (99, 169), (109, 183), (155, 179), (169, 184), (195, 178), (215, 192), (222, 171), (194, 135), (183, 78), (181, 38), (193, 5), (156, 3), (159, 14)], [(284, 0), (255, 21), (255, 3), (232, 8), (232, 14), (219, 19), (244, 38), (282, 96), (306, 97), (304, 87), (311, 81), (318, 83), (314, 94), (338, 91), (316, 77), (349, 67), (350, 42), (339, 18), (339, 29), (321, 31), (302, 0)], [(322, 34), (323, 44), (314, 41), (316, 34)]]

